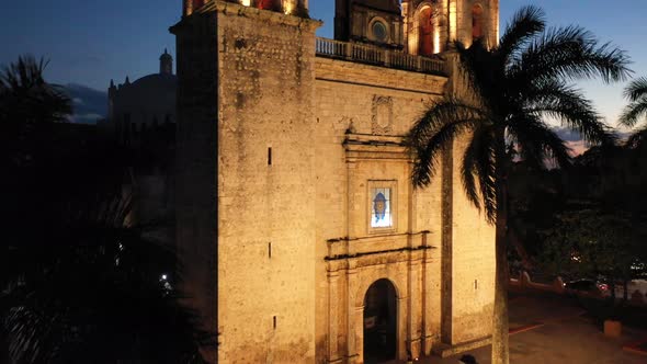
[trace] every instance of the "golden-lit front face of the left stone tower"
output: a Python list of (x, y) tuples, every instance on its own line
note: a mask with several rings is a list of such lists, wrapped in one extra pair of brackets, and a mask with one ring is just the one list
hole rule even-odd
[(220, 361), (315, 359), (316, 22), (218, 19)]

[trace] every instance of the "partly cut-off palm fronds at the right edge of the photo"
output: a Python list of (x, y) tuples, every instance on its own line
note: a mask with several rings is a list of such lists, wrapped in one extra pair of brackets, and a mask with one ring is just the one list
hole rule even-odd
[[(624, 95), (629, 100), (629, 104), (620, 116), (620, 123), (627, 127), (634, 127), (640, 118), (647, 116), (647, 77), (633, 80), (625, 88)], [(627, 140), (627, 146), (629, 148), (642, 149), (645, 146), (644, 141), (646, 139), (647, 124), (644, 124), (638, 130), (632, 134)]]

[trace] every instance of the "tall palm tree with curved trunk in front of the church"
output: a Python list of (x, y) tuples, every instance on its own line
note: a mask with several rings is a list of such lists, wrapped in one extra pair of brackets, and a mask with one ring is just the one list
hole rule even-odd
[[(472, 94), (450, 94), (434, 102), (415, 123), (408, 139), (417, 160), (412, 181), (430, 183), (443, 150), (466, 138), (461, 178), (468, 200), (496, 226), (496, 288), (492, 363), (509, 363), (507, 304), (508, 173), (513, 145), (518, 158), (534, 168), (570, 162), (569, 148), (546, 117), (572, 128), (588, 143), (611, 144), (614, 137), (601, 116), (569, 81), (597, 76), (606, 82), (627, 77), (628, 57), (600, 45), (578, 26), (545, 27), (544, 12), (519, 10), (498, 46), (481, 42), (455, 52)], [(457, 79), (457, 76), (454, 76)]]

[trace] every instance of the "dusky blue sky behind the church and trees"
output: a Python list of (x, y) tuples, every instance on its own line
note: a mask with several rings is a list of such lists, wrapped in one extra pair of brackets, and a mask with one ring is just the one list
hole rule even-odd
[[(332, 37), (334, 0), (310, 0), (310, 15)], [(541, 5), (549, 25), (579, 24), (604, 42), (627, 50), (636, 76), (647, 76), (645, 0), (501, 0), (501, 26), (514, 10)], [(174, 54), (168, 27), (180, 20), (182, 0), (32, 0), (0, 1), (0, 64), (30, 53), (50, 59), (46, 77), (57, 83), (79, 83), (104, 90), (111, 78), (123, 82), (158, 70), (164, 47)], [(599, 110), (615, 121), (624, 83), (582, 82)]]

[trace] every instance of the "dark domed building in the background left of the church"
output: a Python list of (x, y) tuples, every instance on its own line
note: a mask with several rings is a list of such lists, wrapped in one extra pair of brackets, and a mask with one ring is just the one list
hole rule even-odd
[(124, 193), (133, 198), (129, 223), (146, 225), (149, 237), (172, 244), (174, 237), (174, 159), (178, 78), (164, 49), (159, 72), (123, 84), (111, 80), (107, 120), (100, 125), (124, 148), (128, 177)]

